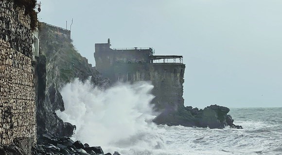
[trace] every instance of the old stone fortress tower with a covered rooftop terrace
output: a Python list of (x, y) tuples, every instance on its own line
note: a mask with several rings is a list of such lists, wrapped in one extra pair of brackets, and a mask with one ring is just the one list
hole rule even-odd
[[(96, 68), (112, 81), (152, 81), (158, 110), (183, 106), (185, 64), (182, 56), (156, 56), (153, 48), (110, 48), (95, 44)], [(167, 61), (172, 60), (172, 61)]]

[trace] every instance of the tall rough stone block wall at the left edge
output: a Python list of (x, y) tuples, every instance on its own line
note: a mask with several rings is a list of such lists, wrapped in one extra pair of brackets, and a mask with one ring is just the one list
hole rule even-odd
[(36, 142), (30, 23), (24, 7), (0, 1), (0, 144)]

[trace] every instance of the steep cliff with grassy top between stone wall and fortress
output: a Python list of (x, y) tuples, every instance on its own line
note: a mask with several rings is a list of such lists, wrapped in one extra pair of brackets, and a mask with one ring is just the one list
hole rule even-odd
[(75, 126), (63, 123), (54, 113), (64, 110), (62, 86), (74, 78), (91, 81), (99, 87), (108, 86), (98, 71), (88, 64), (71, 44), (70, 36), (54, 31), (53, 27), (40, 23), (40, 48), (36, 59), (37, 81), (37, 135), (49, 133), (54, 136), (71, 136)]

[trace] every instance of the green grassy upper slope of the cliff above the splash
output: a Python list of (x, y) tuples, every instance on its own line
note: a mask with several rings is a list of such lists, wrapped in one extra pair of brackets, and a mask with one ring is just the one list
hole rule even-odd
[(39, 31), (40, 54), (46, 56), (46, 70), (56, 78), (54, 82), (67, 83), (74, 78), (85, 80), (97, 74), (88, 60), (77, 52), (68, 36), (52, 31), (44, 23), (40, 24)]

